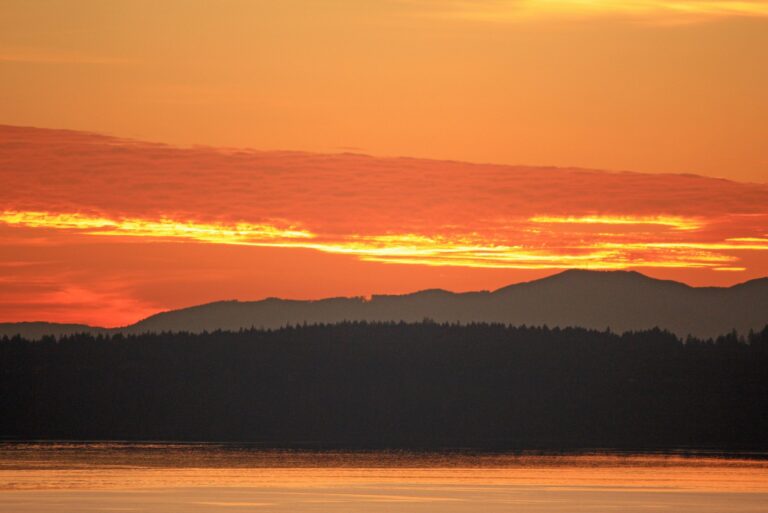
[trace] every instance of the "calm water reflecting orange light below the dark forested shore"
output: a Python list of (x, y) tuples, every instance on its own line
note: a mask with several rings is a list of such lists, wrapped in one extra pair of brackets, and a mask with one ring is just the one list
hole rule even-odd
[(764, 457), (0, 444), (0, 511), (764, 513)]

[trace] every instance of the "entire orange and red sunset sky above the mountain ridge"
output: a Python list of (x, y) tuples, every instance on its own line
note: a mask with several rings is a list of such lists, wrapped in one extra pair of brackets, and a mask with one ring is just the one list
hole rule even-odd
[(0, 322), (768, 275), (768, 1), (0, 3)]

